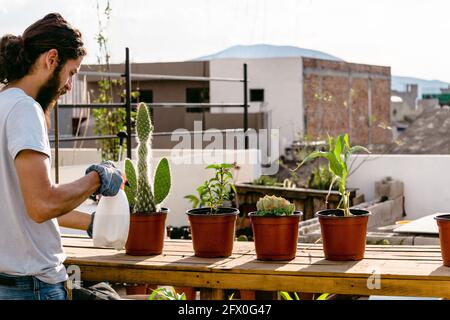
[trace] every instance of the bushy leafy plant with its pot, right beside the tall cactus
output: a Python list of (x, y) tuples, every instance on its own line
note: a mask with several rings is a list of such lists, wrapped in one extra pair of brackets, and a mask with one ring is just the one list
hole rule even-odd
[(212, 164), (206, 168), (215, 170), (214, 177), (197, 188), (198, 197), (185, 197), (194, 207), (186, 212), (194, 252), (197, 257), (229, 257), (239, 214), (238, 209), (224, 206), (230, 200), (231, 190), (235, 191), (231, 171), (233, 165)]

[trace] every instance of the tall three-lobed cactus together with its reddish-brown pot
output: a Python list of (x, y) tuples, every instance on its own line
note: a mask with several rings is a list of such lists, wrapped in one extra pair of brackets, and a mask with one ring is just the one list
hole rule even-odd
[(125, 160), (128, 186), (125, 193), (130, 204), (130, 231), (125, 244), (129, 255), (161, 254), (164, 245), (167, 208), (161, 203), (171, 187), (170, 167), (167, 158), (162, 158), (155, 171), (153, 186), (150, 184), (149, 149), (153, 125), (148, 108), (139, 104), (136, 119), (138, 145), (137, 170), (130, 159)]

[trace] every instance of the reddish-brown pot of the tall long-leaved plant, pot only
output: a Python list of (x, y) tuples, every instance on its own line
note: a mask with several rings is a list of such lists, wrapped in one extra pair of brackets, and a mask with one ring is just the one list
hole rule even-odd
[(367, 222), (370, 212), (350, 209), (353, 216), (344, 217), (342, 210), (316, 213), (322, 232), (325, 259), (335, 261), (362, 260), (366, 249)]

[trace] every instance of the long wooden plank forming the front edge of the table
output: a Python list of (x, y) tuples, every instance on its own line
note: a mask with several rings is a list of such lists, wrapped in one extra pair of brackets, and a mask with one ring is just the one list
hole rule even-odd
[(390, 295), (450, 298), (450, 280), (415, 280), (381, 278), (379, 289), (370, 289), (367, 278), (316, 277), (304, 275), (255, 275), (204, 273), (164, 270), (120, 270), (109, 267), (82, 266), (83, 281), (159, 283), (215, 289), (260, 291), (327, 292), (351, 295)]

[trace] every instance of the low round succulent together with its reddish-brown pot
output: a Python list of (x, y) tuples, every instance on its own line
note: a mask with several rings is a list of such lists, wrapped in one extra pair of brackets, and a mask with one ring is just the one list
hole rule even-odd
[(258, 260), (292, 260), (297, 252), (300, 211), (288, 200), (265, 196), (249, 214)]

